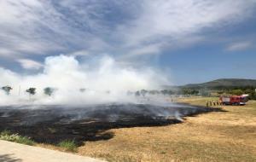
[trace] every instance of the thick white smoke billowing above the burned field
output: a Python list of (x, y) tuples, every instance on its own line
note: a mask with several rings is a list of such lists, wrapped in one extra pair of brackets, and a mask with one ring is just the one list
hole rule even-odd
[[(49, 56), (43, 68), (32, 75), (0, 68), (0, 86), (13, 88), (9, 95), (0, 90), (0, 105), (137, 102), (134, 95), (127, 95), (128, 90), (155, 90), (169, 84), (161, 72), (148, 67), (122, 67), (108, 55), (96, 62), (79, 62), (67, 55)], [(26, 93), (30, 87), (37, 89), (35, 95)], [(54, 94), (45, 95), (46, 87), (55, 88)]]

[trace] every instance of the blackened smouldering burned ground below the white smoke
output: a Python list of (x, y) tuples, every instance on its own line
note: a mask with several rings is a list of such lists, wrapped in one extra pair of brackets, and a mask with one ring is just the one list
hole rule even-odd
[(97, 106), (9, 106), (0, 107), (0, 130), (10, 130), (33, 141), (55, 145), (62, 140), (108, 140), (107, 130), (140, 126), (161, 126), (182, 122), (182, 117), (217, 111), (216, 108), (174, 104), (160, 107), (147, 104)]

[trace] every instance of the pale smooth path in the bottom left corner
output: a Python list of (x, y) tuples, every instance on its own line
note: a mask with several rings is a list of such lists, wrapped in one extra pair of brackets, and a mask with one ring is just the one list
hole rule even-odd
[(0, 140), (1, 162), (102, 162), (71, 153), (61, 153)]

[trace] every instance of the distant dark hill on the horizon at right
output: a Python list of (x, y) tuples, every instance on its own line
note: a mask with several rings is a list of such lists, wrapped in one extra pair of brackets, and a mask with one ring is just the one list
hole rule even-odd
[(256, 79), (245, 79), (245, 78), (220, 78), (217, 80), (212, 80), (210, 82), (202, 84), (186, 84), (181, 86), (182, 88), (207, 88), (214, 89), (218, 87), (245, 87), (253, 86), (256, 87)]

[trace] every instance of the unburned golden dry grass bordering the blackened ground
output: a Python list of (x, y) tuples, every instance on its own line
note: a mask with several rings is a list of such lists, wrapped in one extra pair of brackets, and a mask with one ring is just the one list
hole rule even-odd
[[(205, 105), (217, 98), (183, 98)], [(256, 161), (256, 101), (227, 112), (188, 117), (182, 124), (108, 130), (108, 141), (85, 142), (78, 153), (108, 161)]]

